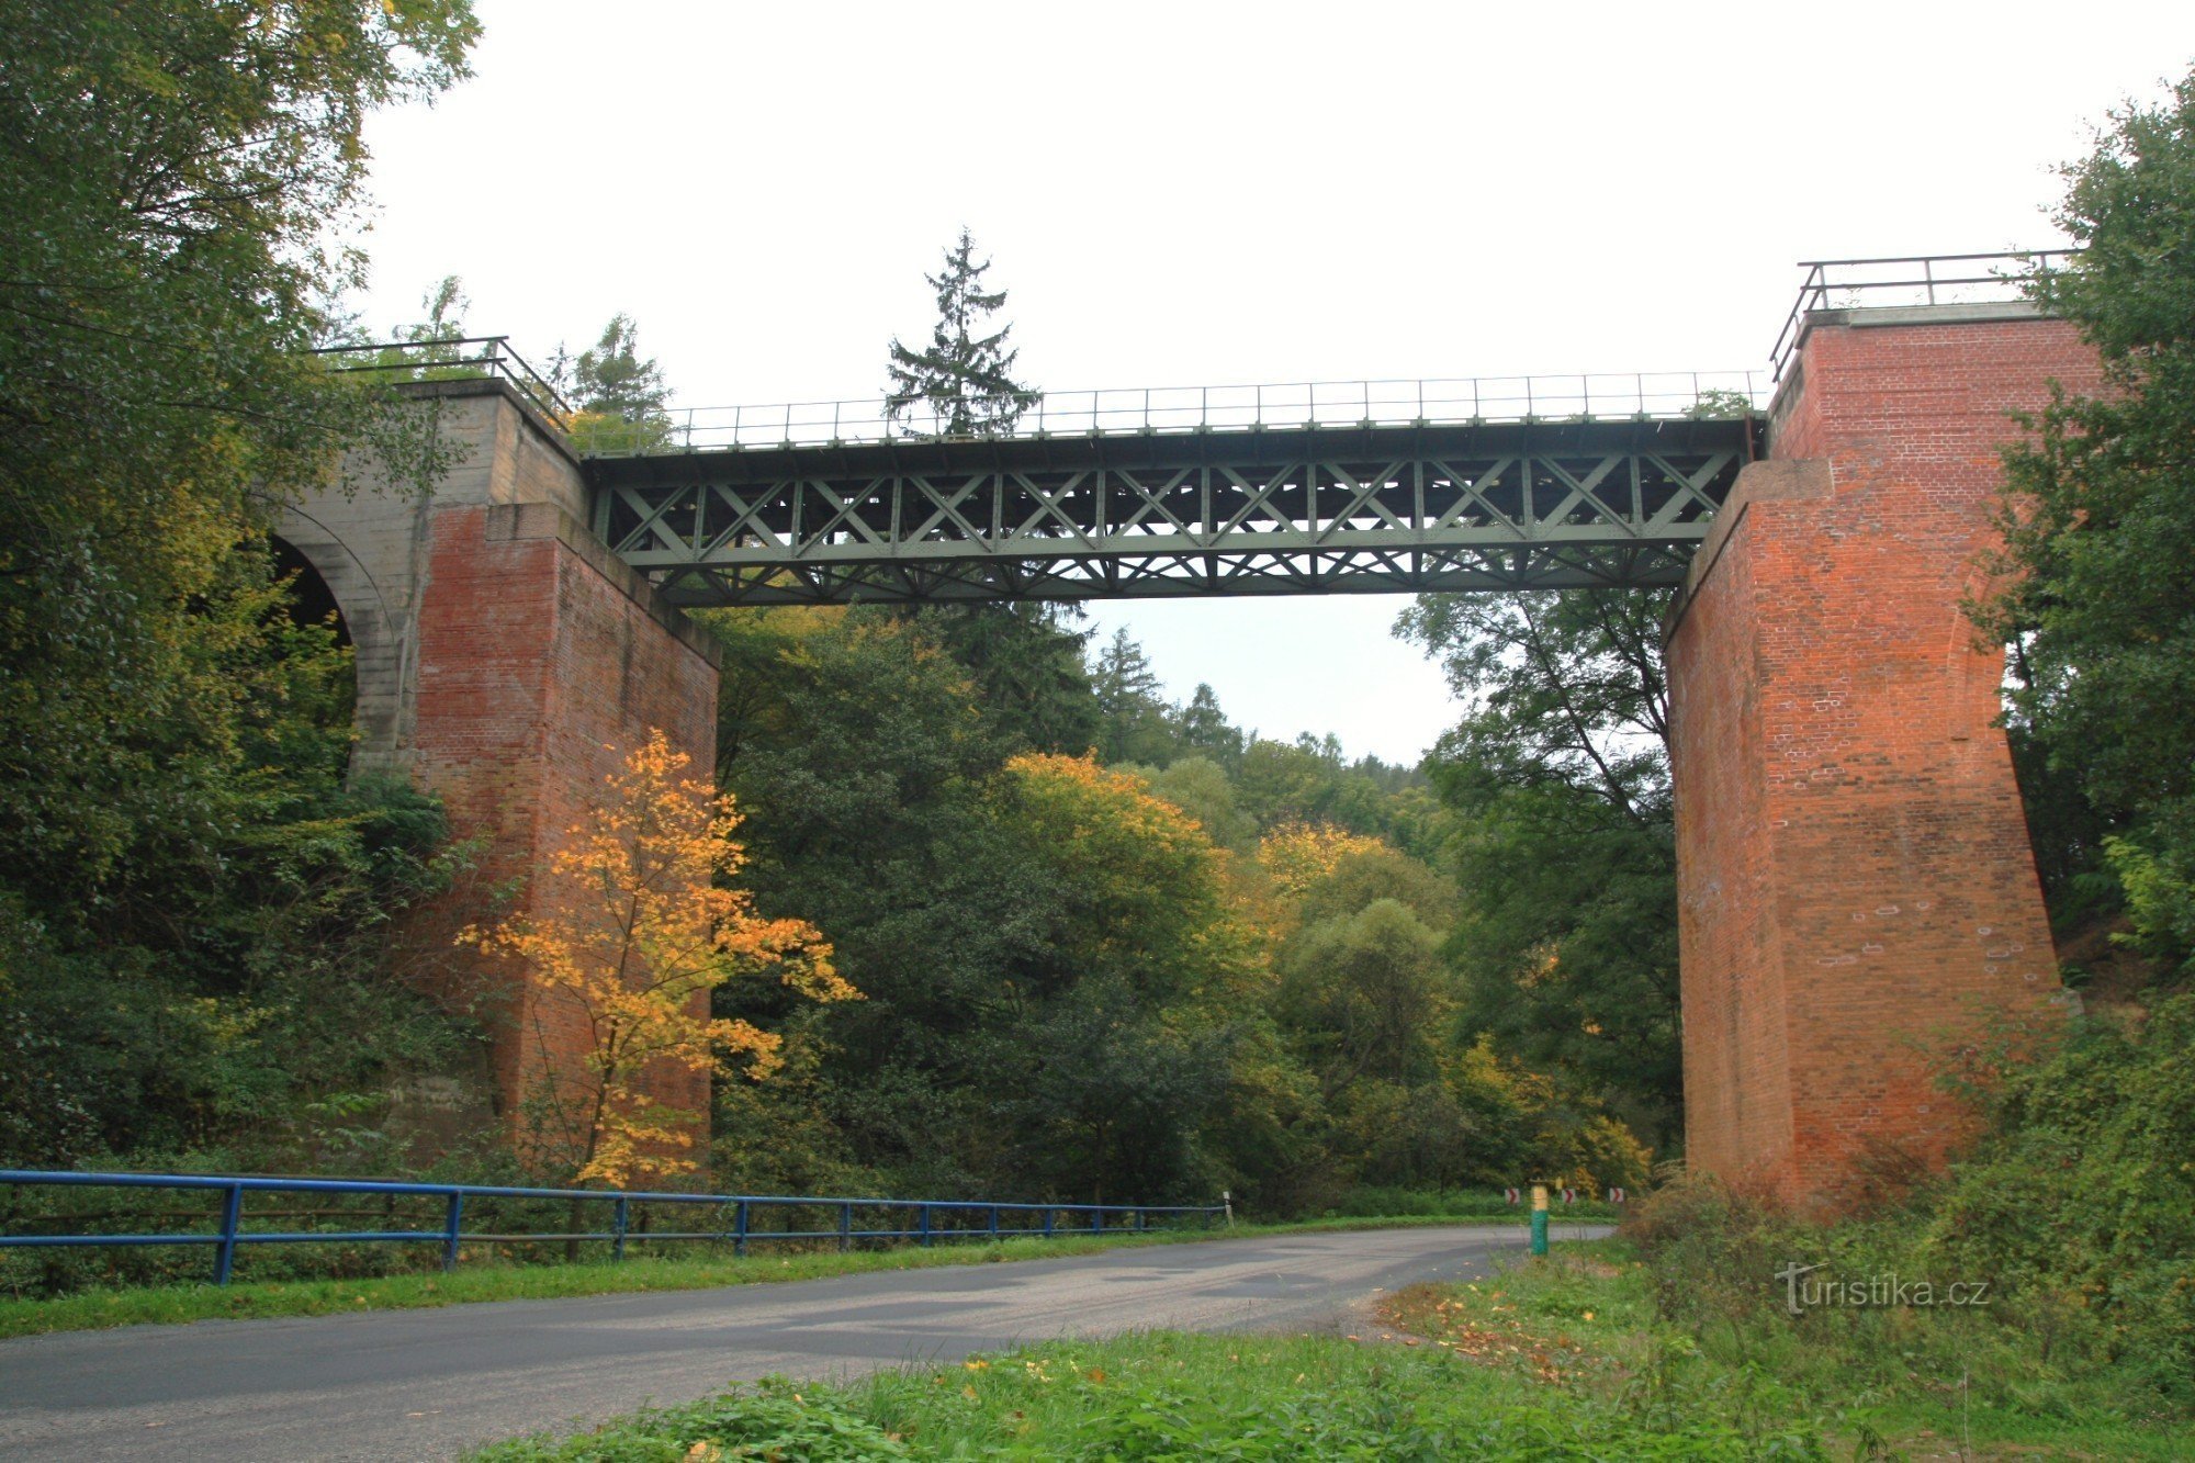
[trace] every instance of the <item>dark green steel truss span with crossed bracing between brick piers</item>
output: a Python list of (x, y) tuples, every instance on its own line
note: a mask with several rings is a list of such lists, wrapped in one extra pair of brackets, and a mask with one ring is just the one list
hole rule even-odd
[(676, 604), (1137, 600), (1684, 580), (1752, 420), (896, 442), (588, 461)]

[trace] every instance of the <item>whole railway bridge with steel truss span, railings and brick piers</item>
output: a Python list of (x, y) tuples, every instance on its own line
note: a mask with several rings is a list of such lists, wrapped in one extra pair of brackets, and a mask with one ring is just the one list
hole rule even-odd
[[(713, 764), (689, 606), (1673, 587), (1688, 1160), (1835, 1206), (1943, 1162), (1943, 1059), (2065, 999), (1960, 608), (2013, 413), (2101, 376), (2008, 283), (2037, 259), (1806, 266), (1758, 373), (1047, 393), (986, 439), (878, 400), (619, 428), (448, 343), (395, 369), (454, 466), (281, 536), (356, 646), (360, 764), (441, 791), (525, 901), (615, 747)], [(514, 995), (507, 1103), (582, 1050)]]

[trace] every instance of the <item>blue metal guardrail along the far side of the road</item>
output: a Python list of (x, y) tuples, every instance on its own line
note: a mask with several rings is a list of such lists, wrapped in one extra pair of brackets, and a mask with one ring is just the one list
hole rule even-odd
[[(72, 1186), (72, 1188), (204, 1188), (222, 1195), (219, 1228), (213, 1232), (187, 1235), (0, 1235), (0, 1250), (61, 1248), (61, 1246), (215, 1246), (213, 1283), (228, 1285), (235, 1267), (237, 1246), (281, 1246), (281, 1243), (439, 1243), (441, 1267), (452, 1270), (459, 1246), (470, 1241), (496, 1243), (571, 1243), (608, 1241), (612, 1259), (626, 1259), (628, 1241), (709, 1239), (729, 1241), (733, 1254), (746, 1254), (746, 1246), (768, 1239), (836, 1239), (841, 1250), (849, 1250), (856, 1239), (913, 1239), (928, 1246), (939, 1239), (1005, 1239), (1014, 1235), (1104, 1235), (1106, 1215), (1128, 1217), (1128, 1226), (1141, 1232), (1152, 1215), (1225, 1215), (1223, 1204), (1209, 1206), (1166, 1206), (1166, 1204), (992, 1204), (988, 1199), (801, 1199), (790, 1195), (729, 1195), (729, 1193), (652, 1193), (623, 1188), (505, 1188), (492, 1184), (402, 1184), (389, 1180), (312, 1180), (312, 1177), (241, 1177), (213, 1173), (75, 1173), (42, 1169), (0, 1169), (0, 1184), (9, 1186)], [(246, 1193), (342, 1193), (342, 1195), (428, 1195), (443, 1202), (443, 1221), (432, 1230), (248, 1230), (244, 1228)], [(522, 1235), (465, 1232), (465, 1199), (575, 1199), (586, 1204), (610, 1204), (608, 1230), (542, 1230)], [(632, 1210), (641, 1204), (702, 1204), (722, 1213), (731, 1208), (731, 1228), (724, 1230), (634, 1230)], [(784, 1208), (834, 1208), (836, 1230), (762, 1230), (753, 1226), (757, 1210)], [(913, 1228), (878, 1230), (854, 1228), (854, 1210), (911, 1210)], [(937, 1217), (981, 1215), (979, 1224), (937, 1224)], [(1021, 1228), (999, 1228), (999, 1217), (1023, 1219)], [(1087, 1224), (1058, 1226), (1058, 1215), (1087, 1217)]]

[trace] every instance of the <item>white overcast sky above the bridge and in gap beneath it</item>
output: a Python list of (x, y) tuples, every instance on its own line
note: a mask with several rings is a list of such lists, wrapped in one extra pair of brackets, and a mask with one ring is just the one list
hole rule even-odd
[[(375, 119), (375, 325), (463, 275), (547, 354), (637, 316), (676, 404), (882, 391), (961, 224), (1047, 389), (1758, 367), (1796, 259), (2055, 239), (2052, 165), (2195, 4), (479, 0)], [(1168, 692), (1411, 762), (1400, 600), (1100, 604)]]

